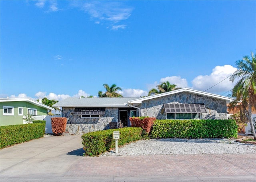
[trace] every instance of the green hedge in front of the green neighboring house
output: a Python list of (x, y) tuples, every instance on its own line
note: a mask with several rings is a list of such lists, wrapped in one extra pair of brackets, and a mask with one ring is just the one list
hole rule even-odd
[(45, 121), (24, 125), (0, 126), (0, 148), (38, 139), (44, 136)]

